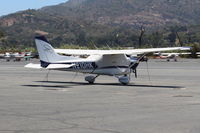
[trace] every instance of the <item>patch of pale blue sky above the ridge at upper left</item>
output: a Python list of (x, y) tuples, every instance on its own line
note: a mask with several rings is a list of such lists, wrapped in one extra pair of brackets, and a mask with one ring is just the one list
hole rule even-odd
[(68, 0), (2, 0), (0, 3), (0, 16), (26, 9), (56, 5), (66, 1)]

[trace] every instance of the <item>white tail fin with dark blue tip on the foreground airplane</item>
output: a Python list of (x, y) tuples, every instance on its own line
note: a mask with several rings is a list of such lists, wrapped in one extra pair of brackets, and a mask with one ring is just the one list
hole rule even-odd
[(47, 67), (51, 63), (67, 60), (66, 56), (57, 54), (44, 36), (35, 37), (41, 66)]

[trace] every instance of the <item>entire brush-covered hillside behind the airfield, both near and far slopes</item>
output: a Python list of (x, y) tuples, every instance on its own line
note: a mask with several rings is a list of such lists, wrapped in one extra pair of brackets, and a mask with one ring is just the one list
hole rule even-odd
[(199, 12), (199, 0), (69, 0), (0, 17), (0, 31), (6, 35), (0, 46), (32, 47), (36, 34), (46, 35), (54, 46), (137, 46), (141, 25), (148, 31), (145, 45), (171, 45), (171, 28), (166, 27), (172, 25), (180, 25), (188, 35), (192, 32), (198, 42), (199, 31), (189, 25), (199, 24)]

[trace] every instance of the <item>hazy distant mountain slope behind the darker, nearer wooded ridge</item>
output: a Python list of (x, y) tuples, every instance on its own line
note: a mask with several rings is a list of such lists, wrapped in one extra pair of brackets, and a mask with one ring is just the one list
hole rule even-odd
[(41, 11), (98, 24), (155, 27), (200, 22), (199, 0), (69, 0)]

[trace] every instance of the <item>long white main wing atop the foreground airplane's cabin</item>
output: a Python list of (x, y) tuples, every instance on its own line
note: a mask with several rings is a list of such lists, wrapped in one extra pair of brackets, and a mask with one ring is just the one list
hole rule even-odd
[(81, 50), (81, 49), (54, 49), (56, 53), (67, 55), (110, 55), (110, 54), (143, 54), (160, 51), (190, 50), (190, 47), (169, 47), (169, 48), (149, 48), (149, 49), (129, 49), (129, 50)]

